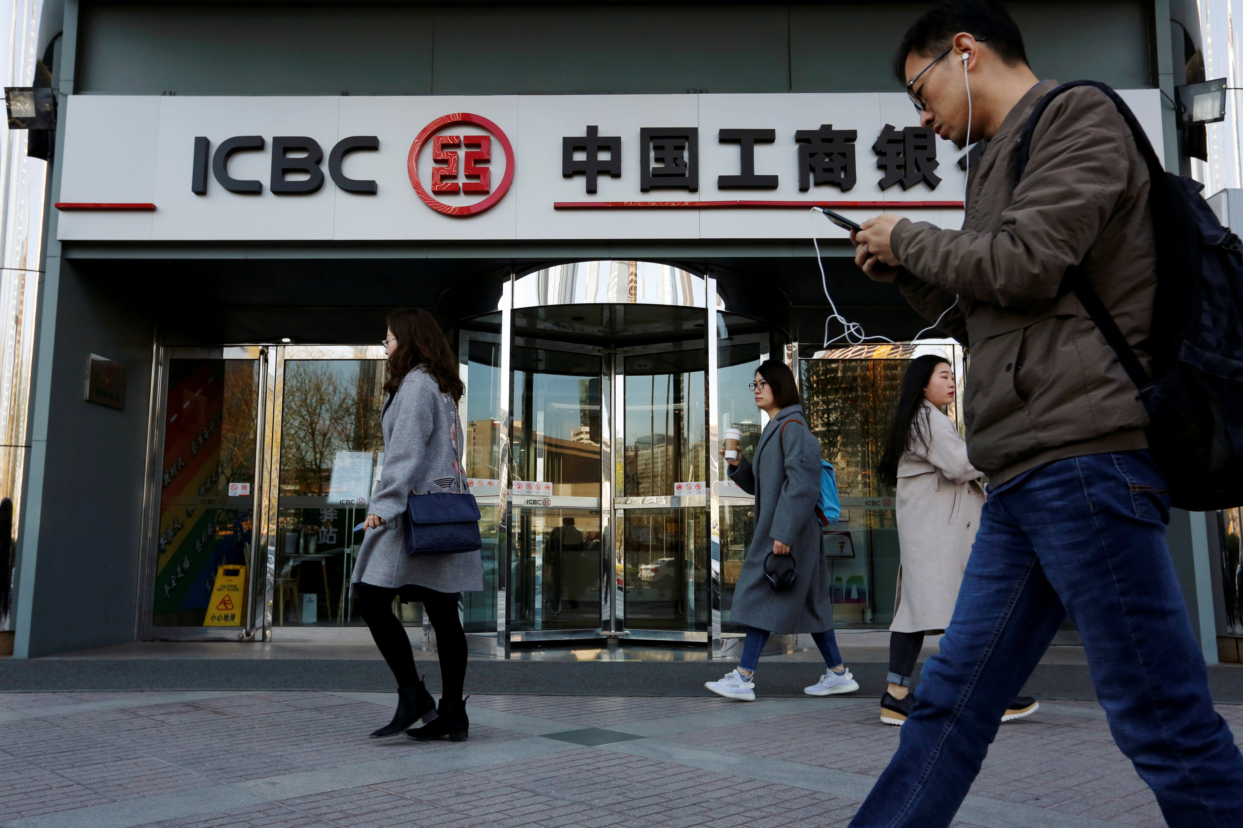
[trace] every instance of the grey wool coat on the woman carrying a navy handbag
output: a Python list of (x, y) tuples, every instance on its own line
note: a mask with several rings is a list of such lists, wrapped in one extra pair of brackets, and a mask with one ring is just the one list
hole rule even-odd
[(351, 581), (385, 587), (414, 583), (438, 592), (482, 590), (484, 561), (477, 550), (405, 554), (405, 502), (410, 490), (457, 490), (464, 441), (452, 397), (443, 394), (423, 367), (415, 367), (397, 394), (384, 401), (382, 427), (384, 468), (367, 511), (385, 524), (367, 530)]

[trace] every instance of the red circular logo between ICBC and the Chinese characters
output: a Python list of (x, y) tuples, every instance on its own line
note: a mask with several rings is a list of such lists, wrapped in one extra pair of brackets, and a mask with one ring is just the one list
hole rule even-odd
[[(491, 135), (435, 135), (436, 132), (452, 124), (472, 124), (482, 127)], [(492, 138), (496, 138), (501, 149), (505, 150), (505, 175), (501, 182), (492, 187), (490, 166), (479, 166), (480, 161), (492, 160)], [(423, 148), (431, 143), (431, 192), (423, 186), (419, 180), (419, 155)], [(465, 150), (465, 159), (459, 169), (457, 150)], [(443, 164), (438, 165), (438, 161)], [(475, 216), (496, 206), (513, 182), (513, 146), (501, 128), (482, 115), (474, 115), (469, 112), (455, 112), (436, 118), (423, 128), (419, 135), (410, 144), (410, 154), (406, 156), (406, 171), (410, 174), (410, 184), (419, 194), (423, 202), (446, 216)], [(436, 192), (486, 192), (486, 199), (471, 205), (454, 206), (435, 197)]]

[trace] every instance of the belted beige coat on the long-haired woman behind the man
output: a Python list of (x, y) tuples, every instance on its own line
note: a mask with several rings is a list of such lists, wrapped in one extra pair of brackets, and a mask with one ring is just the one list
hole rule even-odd
[(897, 463), (897, 597), (892, 632), (945, 629), (958, 600), (984, 490), (953, 421), (925, 401), (927, 444), (914, 438)]

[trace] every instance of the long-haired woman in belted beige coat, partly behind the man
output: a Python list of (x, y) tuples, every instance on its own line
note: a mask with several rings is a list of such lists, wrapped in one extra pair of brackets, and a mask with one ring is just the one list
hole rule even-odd
[[(881, 482), (897, 487), (901, 547), (889, 627), (889, 689), (880, 700), (886, 725), (906, 721), (924, 636), (950, 624), (984, 506), (981, 474), (967, 459), (967, 444), (941, 412), (953, 396), (953, 370), (945, 358), (929, 354), (911, 360), (880, 461)], [(1034, 699), (1016, 699), (1003, 721), (1035, 708)]]

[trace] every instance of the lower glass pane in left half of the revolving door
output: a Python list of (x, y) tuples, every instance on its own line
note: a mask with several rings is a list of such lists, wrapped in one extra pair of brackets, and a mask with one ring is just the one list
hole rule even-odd
[(513, 629), (599, 628), (599, 509), (515, 508), (513, 525)]

